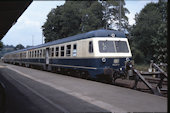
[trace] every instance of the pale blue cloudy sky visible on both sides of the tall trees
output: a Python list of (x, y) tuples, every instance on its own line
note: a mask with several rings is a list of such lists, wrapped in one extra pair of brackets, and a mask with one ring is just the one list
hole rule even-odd
[[(125, 0), (125, 7), (130, 11), (130, 14), (126, 14), (129, 18), (129, 24), (135, 23), (135, 14), (139, 13), (146, 4), (157, 1)], [(33, 1), (1, 41), (4, 45), (22, 44), (25, 47), (44, 43), (41, 26), (45, 23), (52, 8), (64, 3), (65, 1)]]

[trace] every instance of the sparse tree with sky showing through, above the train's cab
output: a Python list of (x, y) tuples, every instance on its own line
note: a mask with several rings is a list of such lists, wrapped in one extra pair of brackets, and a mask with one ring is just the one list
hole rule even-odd
[[(104, 19), (106, 20), (106, 27), (109, 29), (127, 31), (129, 27), (128, 17), (125, 15), (130, 13), (125, 8), (124, 0), (106, 0), (102, 1), (105, 7)], [(121, 13), (120, 13), (121, 12)]]

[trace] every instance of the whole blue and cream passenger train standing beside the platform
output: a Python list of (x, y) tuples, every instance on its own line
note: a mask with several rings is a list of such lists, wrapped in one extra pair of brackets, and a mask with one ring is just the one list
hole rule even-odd
[(124, 71), (131, 57), (123, 32), (95, 30), (8, 53), (4, 62), (107, 78), (116, 70)]

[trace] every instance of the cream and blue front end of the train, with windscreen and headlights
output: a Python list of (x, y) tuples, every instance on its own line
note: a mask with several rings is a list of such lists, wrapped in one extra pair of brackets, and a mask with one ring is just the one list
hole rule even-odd
[(98, 58), (97, 73), (102, 73), (98, 75), (99, 78), (114, 81), (132, 76), (132, 54), (127, 38), (96, 38), (94, 42), (97, 50), (95, 57)]

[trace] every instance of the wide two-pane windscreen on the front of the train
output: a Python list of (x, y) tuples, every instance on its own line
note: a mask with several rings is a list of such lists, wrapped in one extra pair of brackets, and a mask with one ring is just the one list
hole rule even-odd
[(99, 51), (101, 53), (128, 53), (126, 41), (99, 41)]

